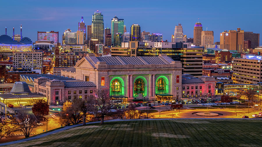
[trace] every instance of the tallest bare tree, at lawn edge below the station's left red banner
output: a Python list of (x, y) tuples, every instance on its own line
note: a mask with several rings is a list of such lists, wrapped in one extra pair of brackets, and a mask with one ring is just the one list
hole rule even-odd
[(104, 124), (105, 115), (111, 115), (109, 112), (111, 106), (114, 105), (114, 102), (111, 101), (111, 97), (109, 95), (109, 90), (97, 90), (95, 92), (96, 98), (94, 99), (94, 105), (98, 106), (99, 110), (91, 109), (95, 113), (100, 113), (101, 122), (100, 124)]

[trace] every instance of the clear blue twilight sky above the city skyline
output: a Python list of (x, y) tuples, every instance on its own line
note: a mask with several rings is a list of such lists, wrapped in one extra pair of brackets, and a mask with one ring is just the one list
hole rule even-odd
[[(64, 30), (77, 31), (81, 16), (86, 25), (91, 25), (96, 10), (104, 15), (104, 26), (111, 28), (111, 18), (115, 15), (124, 19), (127, 31), (132, 24), (139, 24), (142, 31), (163, 33), (163, 40), (171, 41), (178, 22), (183, 26), (184, 35), (193, 37), (194, 24), (202, 23), (203, 30), (214, 31), (214, 42), (219, 41), (219, 33), (224, 30), (236, 30), (262, 33), (261, 0), (24, 0), (1, 1), (0, 35), (20, 34), (37, 40), (37, 31), (59, 31), (59, 42)], [(262, 45), (262, 39), (260, 39)]]

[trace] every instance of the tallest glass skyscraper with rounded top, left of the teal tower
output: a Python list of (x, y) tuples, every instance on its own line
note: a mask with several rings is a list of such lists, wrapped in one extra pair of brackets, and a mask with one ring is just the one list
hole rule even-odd
[(92, 16), (92, 40), (98, 40), (98, 44), (104, 44), (104, 20), (98, 10)]

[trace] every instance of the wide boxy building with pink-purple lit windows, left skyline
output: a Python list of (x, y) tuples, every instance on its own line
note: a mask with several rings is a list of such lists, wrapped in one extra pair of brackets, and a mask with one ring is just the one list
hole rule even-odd
[(58, 43), (58, 32), (50, 31), (50, 32), (39, 32), (37, 31), (37, 40), (49, 40), (54, 43)]

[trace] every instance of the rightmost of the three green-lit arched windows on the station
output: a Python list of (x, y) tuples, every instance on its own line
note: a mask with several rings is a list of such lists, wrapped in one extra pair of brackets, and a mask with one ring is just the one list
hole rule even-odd
[(169, 80), (166, 76), (159, 76), (155, 81), (155, 94), (168, 94)]

